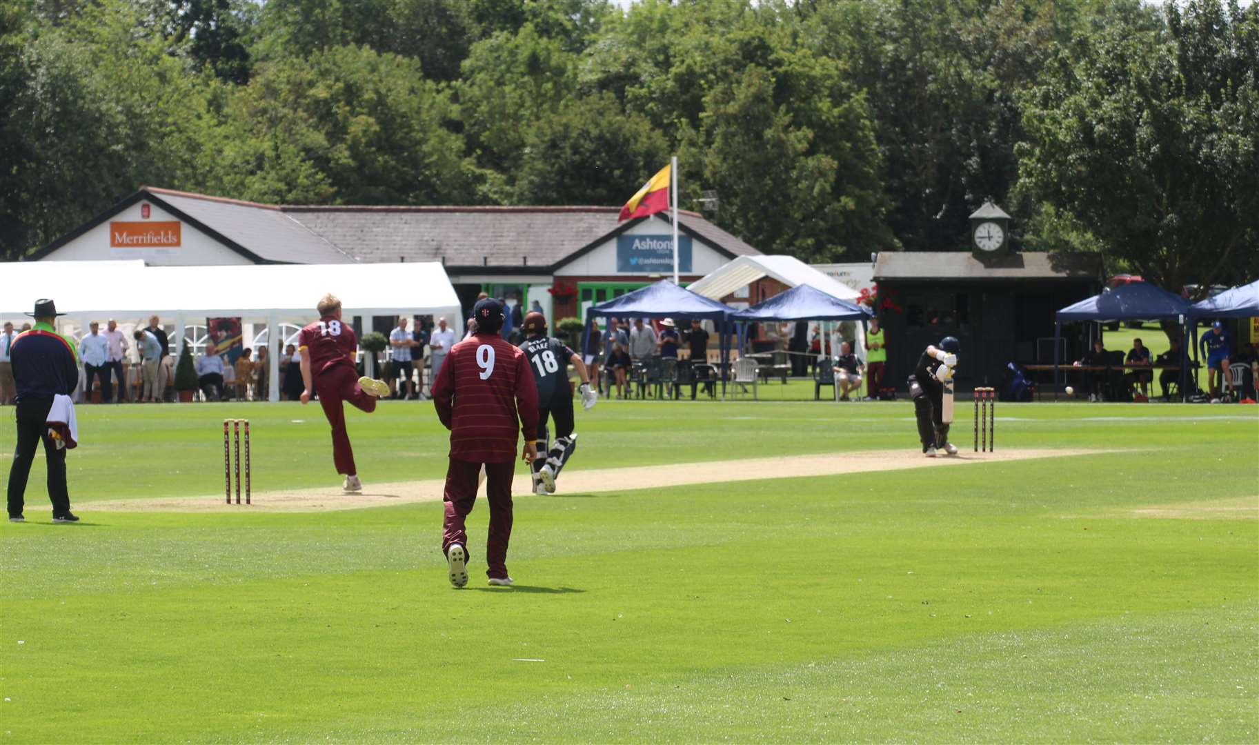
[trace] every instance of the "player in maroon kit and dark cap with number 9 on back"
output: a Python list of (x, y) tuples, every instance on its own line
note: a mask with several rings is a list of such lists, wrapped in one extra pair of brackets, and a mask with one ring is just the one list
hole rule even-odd
[(538, 386), (525, 354), (499, 336), (502, 306), (485, 298), (472, 308), (476, 335), (451, 349), (433, 381), (433, 404), (451, 430), (451, 463), (446, 471), (446, 521), (442, 551), (451, 584), (468, 581), (465, 520), (476, 502), (477, 477), (486, 471), (490, 536), (486, 575), (491, 585), (511, 585), (507, 544), (511, 540), (511, 478), (516, 447), (524, 437), (524, 459), (538, 457)]

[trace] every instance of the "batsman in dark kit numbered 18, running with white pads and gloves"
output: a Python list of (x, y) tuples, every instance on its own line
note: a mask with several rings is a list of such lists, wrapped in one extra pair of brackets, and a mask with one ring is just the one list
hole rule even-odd
[[(538, 452), (545, 458), (533, 462), (534, 493), (554, 495), (555, 479), (577, 449), (577, 433), (573, 432), (573, 389), (568, 383), (568, 364), (572, 362), (582, 379), (578, 390), (582, 393), (582, 406), (594, 406), (599, 394), (590, 388), (590, 374), (580, 355), (563, 341), (546, 336), (546, 317), (533, 312), (525, 316), (522, 323), (525, 340), (520, 342), (534, 371), (538, 383)], [(546, 420), (555, 424), (555, 444), (550, 444)]]

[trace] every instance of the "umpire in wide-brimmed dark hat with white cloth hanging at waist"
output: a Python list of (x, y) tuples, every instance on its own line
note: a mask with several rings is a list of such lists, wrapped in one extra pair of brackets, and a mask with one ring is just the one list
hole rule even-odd
[(53, 522), (77, 522), (71, 512), (65, 487), (65, 449), (48, 437), (48, 412), (53, 396), (71, 395), (78, 386), (78, 357), (74, 345), (53, 327), (59, 315), (50, 300), (35, 302), (35, 327), (14, 340), (10, 350), (13, 376), (18, 384), (18, 442), (9, 471), (9, 520), (23, 522), (26, 478), (39, 440), (44, 440), (48, 461), (48, 498), (53, 502)]

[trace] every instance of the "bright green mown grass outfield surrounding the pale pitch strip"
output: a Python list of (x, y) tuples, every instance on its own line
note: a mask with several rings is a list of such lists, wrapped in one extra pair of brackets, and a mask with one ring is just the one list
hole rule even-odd
[[(608, 401), (578, 413), (570, 467), (913, 459), (912, 414)], [(256, 493), (337, 481), (313, 406), (79, 415), (77, 501), (220, 495), (227, 415), (251, 419)], [(383, 403), (350, 428), (369, 485), (443, 472), (428, 404)], [(627, 477), (596, 495), (562, 478), (516, 502), (512, 589), (483, 586), (478, 505), (458, 591), (438, 503), (83, 508), (54, 526), (37, 461), (29, 522), (0, 525), (0, 739), (1259, 740), (1259, 520), (1211, 511), (1259, 502), (1259, 410), (998, 404), (997, 447), (1124, 452), (641, 491)], [(1158, 505), (1181, 517), (1137, 517)]]

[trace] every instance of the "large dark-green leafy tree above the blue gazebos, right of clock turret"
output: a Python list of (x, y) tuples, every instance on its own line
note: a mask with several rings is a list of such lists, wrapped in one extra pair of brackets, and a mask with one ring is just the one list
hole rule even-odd
[(1059, 50), (1024, 98), (1022, 188), (1147, 281), (1240, 281), (1259, 248), (1259, 8), (1165, 14)]

